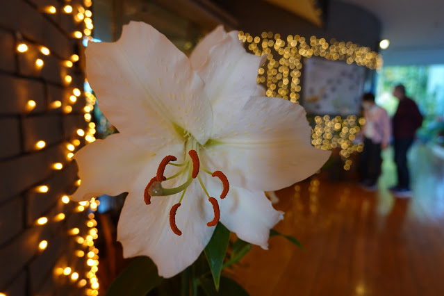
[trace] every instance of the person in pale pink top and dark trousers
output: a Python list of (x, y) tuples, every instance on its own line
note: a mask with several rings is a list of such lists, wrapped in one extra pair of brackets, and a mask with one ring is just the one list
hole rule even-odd
[(381, 150), (388, 147), (390, 141), (390, 117), (387, 111), (375, 104), (375, 95), (363, 94), (365, 125), (363, 126), (364, 149), (361, 154), (361, 184), (367, 190), (377, 189), (377, 180), (381, 172)]

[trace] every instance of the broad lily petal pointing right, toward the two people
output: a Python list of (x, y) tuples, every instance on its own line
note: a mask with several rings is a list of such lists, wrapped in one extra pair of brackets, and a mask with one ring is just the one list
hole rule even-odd
[(219, 145), (205, 149), (204, 163), (221, 170), (234, 186), (272, 191), (306, 179), (319, 170), (330, 152), (311, 146), (304, 108), (284, 99), (251, 97), (211, 137)]

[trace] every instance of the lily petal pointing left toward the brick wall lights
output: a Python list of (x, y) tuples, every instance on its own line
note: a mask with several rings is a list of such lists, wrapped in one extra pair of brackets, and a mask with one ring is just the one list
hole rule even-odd
[[(138, 140), (116, 133), (105, 140), (96, 140), (74, 154), (81, 185), (70, 198), (82, 201), (103, 194), (119, 195), (126, 192), (140, 175), (147, 181), (154, 176), (157, 164), (153, 159), (158, 151), (167, 155), (170, 151), (183, 150), (183, 143), (168, 145), (165, 149), (156, 142)], [(148, 168), (152, 170), (151, 174), (144, 172)]]

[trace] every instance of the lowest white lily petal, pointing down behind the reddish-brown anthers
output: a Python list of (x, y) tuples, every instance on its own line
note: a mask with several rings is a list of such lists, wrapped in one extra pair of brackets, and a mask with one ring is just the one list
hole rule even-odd
[(117, 225), (117, 240), (122, 242), (124, 257), (149, 256), (161, 277), (173, 277), (190, 266), (215, 229), (206, 226), (213, 219), (213, 207), (204, 195), (196, 181), (187, 188), (176, 211), (176, 225), (182, 232), (177, 236), (170, 229), (169, 213), (179, 202), (180, 194), (151, 197), (151, 204), (147, 206), (143, 202), (143, 190), (131, 190)]

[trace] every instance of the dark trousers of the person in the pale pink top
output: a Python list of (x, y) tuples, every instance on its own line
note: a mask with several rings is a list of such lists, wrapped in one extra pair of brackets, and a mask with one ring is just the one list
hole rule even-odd
[(364, 149), (359, 163), (361, 181), (375, 185), (381, 172), (381, 143), (364, 138)]

